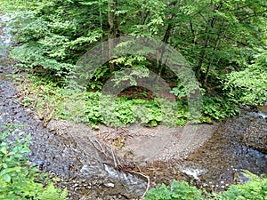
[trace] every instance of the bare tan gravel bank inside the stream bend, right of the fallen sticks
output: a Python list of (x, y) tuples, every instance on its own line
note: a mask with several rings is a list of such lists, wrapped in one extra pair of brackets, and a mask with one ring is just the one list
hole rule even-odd
[(158, 125), (149, 128), (135, 124), (116, 129), (102, 125), (98, 138), (117, 146), (117, 155), (130, 163), (147, 164), (183, 159), (203, 145), (212, 136), (216, 126), (217, 124), (198, 124), (168, 128)]

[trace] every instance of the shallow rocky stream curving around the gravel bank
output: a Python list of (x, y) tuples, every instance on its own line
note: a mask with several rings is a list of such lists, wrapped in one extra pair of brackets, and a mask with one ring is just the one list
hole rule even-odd
[[(2, 17), (1, 20), (6, 19)], [(45, 129), (30, 109), (15, 100), (13, 80), (5, 76), (12, 73), (12, 61), (7, 53), (11, 36), (6, 28), (2, 27), (1, 31), (0, 126), (23, 125), (17, 132), (31, 135), (32, 153), (28, 155), (31, 164), (39, 166), (41, 171), (61, 177), (59, 185), (69, 188), (70, 199), (81, 199), (82, 196), (92, 199), (134, 199), (142, 196), (147, 186), (142, 176), (115, 170), (93, 143), (86, 143), (86, 147), (79, 146), (72, 137)], [(83, 128), (79, 127), (77, 132), (83, 132)], [(221, 190), (239, 181), (238, 175), (242, 169), (256, 174), (267, 172), (264, 143), (262, 145), (261, 141), (254, 141), (255, 137), (248, 137), (251, 132), (262, 134), (263, 140), (266, 139), (266, 113), (244, 111), (240, 116), (221, 123), (210, 140), (182, 161), (144, 165), (142, 172), (150, 175), (152, 181), (179, 179), (182, 174), (182, 177), (194, 179), (197, 185)], [(253, 142), (259, 144), (251, 147)], [(160, 172), (151, 175), (150, 169), (156, 169), (156, 166)]]

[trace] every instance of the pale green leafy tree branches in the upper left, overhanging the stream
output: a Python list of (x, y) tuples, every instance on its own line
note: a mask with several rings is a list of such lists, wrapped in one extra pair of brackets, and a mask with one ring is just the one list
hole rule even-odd
[(12, 8), (7, 24), (12, 27), (15, 41), (21, 44), (12, 50), (12, 58), (20, 60), (20, 68), (42, 67), (45, 74), (67, 76), (79, 52), (88, 50), (101, 37), (99, 28), (82, 35), (77, 31), (90, 24), (90, 20), (81, 21), (87, 9), (77, 2), (5, 1), (4, 6)]

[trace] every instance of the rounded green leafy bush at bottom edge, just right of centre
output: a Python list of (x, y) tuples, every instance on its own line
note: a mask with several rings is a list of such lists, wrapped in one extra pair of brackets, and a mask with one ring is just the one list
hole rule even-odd
[(200, 200), (204, 199), (201, 196), (201, 191), (196, 187), (190, 186), (186, 181), (172, 182), (171, 186), (165, 184), (159, 185), (157, 188), (151, 188), (147, 192), (145, 200), (173, 200), (173, 199), (184, 199), (184, 200)]

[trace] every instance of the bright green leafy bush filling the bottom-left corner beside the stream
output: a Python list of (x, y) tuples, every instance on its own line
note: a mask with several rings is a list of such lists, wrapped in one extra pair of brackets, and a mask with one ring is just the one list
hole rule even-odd
[[(1, 126), (0, 134), (0, 199), (63, 200), (67, 190), (54, 188), (53, 183), (44, 188), (35, 180), (43, 180), (36, 167), (28, 165), (29, 135), (15, 132), (15, 125)], [(10, 137), (15, 137), (12, 140)], [(47, 196), (46, 194), (51, 196)], [(46, 195), (46, 197), (44, 197)]]

